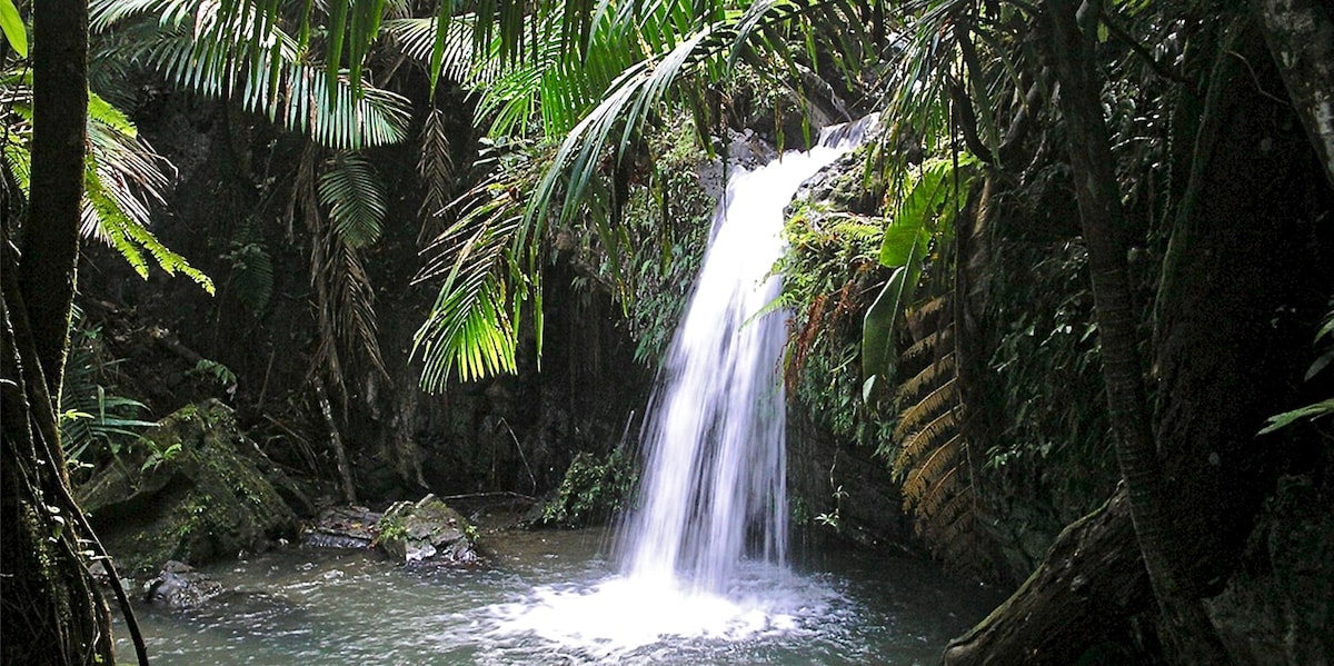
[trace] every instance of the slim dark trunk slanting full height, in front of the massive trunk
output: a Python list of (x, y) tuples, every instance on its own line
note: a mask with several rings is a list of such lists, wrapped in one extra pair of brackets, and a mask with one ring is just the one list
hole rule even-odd
[(1091, 36), (1078, 23), (1081, 13), (1097, 16), (1098, 11), (1087, 4), (1081, 8), (1073, 0), (1049, 0), (1047, 11), (1053, 67), (1061, 81), (1059, 105), (1089, 250), (1109, 418), (1135, 535), (1162, 610), (1170, 658), (1179, 663), (1227, 663), (1203, 605), (1183, 593), (1169, 557), (1170, 503), (1145, 394), (1126, 247), (1119, 239), (1125, 228), (1121, 191), (1102, 115), (1102, 87), (1093, 69)]

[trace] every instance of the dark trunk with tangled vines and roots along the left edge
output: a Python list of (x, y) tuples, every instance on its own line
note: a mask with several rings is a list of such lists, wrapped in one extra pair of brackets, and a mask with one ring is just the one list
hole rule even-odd
[(56, 404), (79, 256), (88, 5), (33, 13), (32, 186), (23, 258), (0, 234), (0, 617), (4, 663), (115, 663), (111, 614), (84, 569)]

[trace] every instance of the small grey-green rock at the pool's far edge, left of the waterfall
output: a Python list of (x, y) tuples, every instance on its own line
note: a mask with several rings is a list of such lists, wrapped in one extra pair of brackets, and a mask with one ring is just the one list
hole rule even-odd
[(376, 547), (398, 562), (470, 565), (479, 559), (476, 529), (435, 495), (416, 503), (395, 502), (378, 529)]

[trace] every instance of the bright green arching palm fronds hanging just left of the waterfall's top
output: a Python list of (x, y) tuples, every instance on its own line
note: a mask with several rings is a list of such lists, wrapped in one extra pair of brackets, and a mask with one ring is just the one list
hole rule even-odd
[[(550, 220), (594, 227), (602, 250), (616, 266), (623, 236), (618, 227), (623, 202), (618, 200), (616, 180), (624, 176), (624, 164), (630, 161), (643, 128), (667, 104), (691, 107), (696, 112), (696, 127), (702, 131), (710, 127), (703, 108), (706, 87), (722, 80), (728, 64), (748, 53), (748, 47), (736, 35), (774, 37), (766, 44), (775, 52), (786, 52), (779, 48), (779, 25), (835, 8), (855, 16), (851, 7), (839, 1), (758, 3), (743, 12), (714, 3), (659, 0), (616, 4), (604, 0), (588, 19), (582, 51), (566, 48), (568, 32), (562, 23), (564, 12), (539, 11), (526, 23), (532, 39), (523, 44), (519, 57), (508, 63), (503, 60), (508, 48), (503, 43), (503, 31), (496, 31), (500, 39), (487, 45), (491, 57), (484, 61), (504, 64), (468, 80), (480, 91), (479, 120), (488, 123), (492, 136), (540, 128), (546, 140), (555, 145), (554, 157), (543, 165), (535, 187), (528, 186), (531, 198), (523, 206), (522, 220), (510, 219), (512, 202), (502, 204), (487, 196), (466, 198), (464, 202), (474, 202), (468, 206), (478, 207), (474, 211), (476, 215), (466, 210), (460, 222), (434, 246), (432, 252), (471, 252), (476, 251), (472, 243), (486, 238), (484, 247), (500, 252), (495, 243), (503, 238), (508, 242), (504, 251), (510, 259), (508, 268), (500, 274), (496, 272), (496, 263), (475, 262), (464, 255), (446, 262), (452, 267), (448, 274), (427, 271), (448, 275), (448, 279), (442, 286), (431, 322), (418, 335), (418, 348), (428, 366), (426, 384), (439, 387), (442, 379), (438, 371), (455, 364), (460, 370), (467, 368), (464, 376), (475, 376), (479, 370), (512, 367), (503, 362), (506, 354), (499, 350), (508, 352), (507, 340), (514, 339), (520, 310), (494, 299), (510, 299), (519, 291), (526, 294), (527, 286), (535, 282), (540, 266), (532, 262), (534, 248), (543, 243)], [(419, 25), (412, 37), (419, 40), (418, 45), (410, 52), (423, 51), (422, 35)], [(462, 53), (462, 49), (454, 47), (447, 52)], [(500, 179), (496, 183), (504, 180), (504, 176), (496, 178)], [(483, 187), (474, 194), (486, 191), (487, 187)], [(496, 207), (504, 210), (504, 216), (496, 218), (500, 210)], [(499, 224), (502, 219), (504, 224)], [(490, 231), (470, 230), (470, 224), (482, 230), (500, 227), (504, 232), (490, 235)], [(474, 240), (467, 243), (460, 238)], [(483, 271), (488, 276), (470, 275), (468, 271)], [(508, 280), (504, 275), (514, 275), (515, 279)], [(508, 288), (502, 288), (502, 284)], [(452, 308), (463, 310), (446, 315)], [(540, 310), (534, 314), (539, 318), (540, 330)], [(454, 324), (443, 326), (446, 320)], [(466, 340), (468, 336), (479, 336), (476, 346)], [(446, 339), (452, 342), (446, 343)], [(459, 350), (488, 347), (496, 352), (490, 356), (459, 355)], [(480, 360), (488, 358), (491, 360)]]

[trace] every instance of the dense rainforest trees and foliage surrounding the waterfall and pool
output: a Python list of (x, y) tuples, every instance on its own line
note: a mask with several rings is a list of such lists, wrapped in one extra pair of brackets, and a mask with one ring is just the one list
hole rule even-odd
[[(1334, 659), (1327, 3), (0, 0), (0, 28), (4, 663), (127, 661), (113, 606), (145, 663), (116, 566), (331, 505), (614, 521), (727, 174), (871, 113), (775, 266), (794, 530), (1003, 593), (944, 663)], [(148, 547), (163, 498), (189, 518)]]

